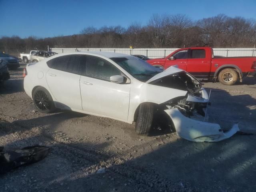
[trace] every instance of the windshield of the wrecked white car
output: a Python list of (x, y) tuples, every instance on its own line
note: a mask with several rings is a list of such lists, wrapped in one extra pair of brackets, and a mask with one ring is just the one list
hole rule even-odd
[(146, 82), (152, 76), (162, 72), (160, 68), (156, 68), (136, 57), (112, 57), (110, 59), (142, 82)]

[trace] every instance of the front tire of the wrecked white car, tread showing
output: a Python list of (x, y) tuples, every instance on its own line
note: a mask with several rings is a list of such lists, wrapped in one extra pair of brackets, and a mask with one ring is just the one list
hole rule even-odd
[(148, 136), (152, 128), (154, 104), (142, 103), (139, 108), (135, 130), (138, 135)]

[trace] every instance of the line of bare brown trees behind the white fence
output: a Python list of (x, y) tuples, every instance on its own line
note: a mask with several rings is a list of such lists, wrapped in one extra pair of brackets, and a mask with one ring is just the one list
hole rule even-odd
[(254, 47), (256, 21), (219, 14), (193, 21), (183, 14), (154, 14), (145, 26), (138, 22), (127, 28), (104, 26), (84, 28), (80, 34), (52, 38), (0, 38), (0, 51), (18, 54), (51, 48), (180, 48), (212, 46), (218, 48)]

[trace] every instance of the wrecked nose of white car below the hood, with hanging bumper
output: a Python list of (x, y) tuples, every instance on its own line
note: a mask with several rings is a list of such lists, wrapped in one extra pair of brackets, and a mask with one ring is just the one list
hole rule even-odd
[(217, 142), (239, 131), (238, 124), (224, 132), (219, 124), (205, 122), (208, 100), (206, 90), (201, 88), (197, 95), (187, 94), (165, 103), (168, 109), (164, 111), (172, 119), (178, 136), (194, 142)]

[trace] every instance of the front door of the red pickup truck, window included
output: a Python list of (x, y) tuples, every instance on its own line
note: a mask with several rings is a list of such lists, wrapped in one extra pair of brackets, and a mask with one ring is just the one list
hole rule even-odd
[(188, 60), (188, 49), (180, 50), (170, 57), (168, 57), (164, 64), (164, 69), (167, 69), (170, 66), (178, 65), (178, 68), (187, 70), (187, 60)]

